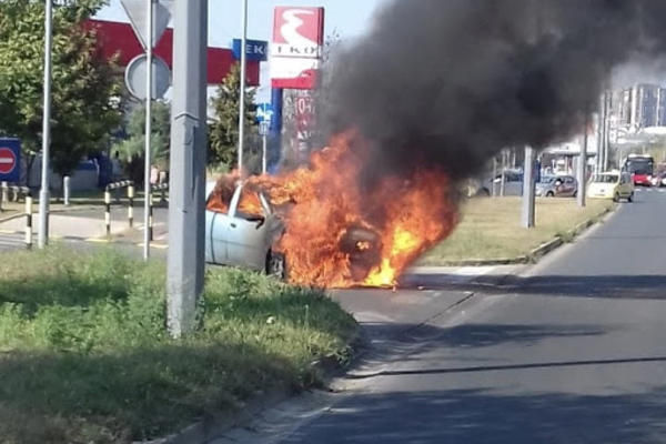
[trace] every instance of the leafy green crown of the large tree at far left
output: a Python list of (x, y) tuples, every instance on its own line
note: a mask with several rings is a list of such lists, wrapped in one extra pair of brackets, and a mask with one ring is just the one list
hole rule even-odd
[[(53, 9), (51, 160), (70, 173), (88, 153), (104, 148), (118, 127), (117, 65), (98, 50), (84, 26), (103, 0), (70, 0)], [(0, 134), (18, 137), (24, 153), (41, 145), (44, 1), (0, 1)]]

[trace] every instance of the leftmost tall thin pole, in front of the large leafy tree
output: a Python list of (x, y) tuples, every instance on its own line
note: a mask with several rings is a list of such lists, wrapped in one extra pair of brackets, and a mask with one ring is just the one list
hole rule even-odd
[(38, 245), (43, 249), (49, 243), (49, 148), (51, 147), (51, 48), (53, 41), (53, 3), (46, 0), (44, 20), (44, 104), (42, 114), (42, 176), (39, 192), (39, 236)]

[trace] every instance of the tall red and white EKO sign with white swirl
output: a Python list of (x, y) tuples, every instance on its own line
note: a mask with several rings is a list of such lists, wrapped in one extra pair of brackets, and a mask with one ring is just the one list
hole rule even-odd
[(273, 24), (273, 88), (313, 89), (324, 43), (324, 9), (278, 7)]

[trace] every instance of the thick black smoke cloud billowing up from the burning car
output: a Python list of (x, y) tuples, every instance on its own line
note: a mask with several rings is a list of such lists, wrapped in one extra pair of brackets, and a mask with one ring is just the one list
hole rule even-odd
[(321, 121), (466, 178), (579, 132), (615, 67), (666, 52), (664, 22), (666, 0), (393, 0), (334, 56)]

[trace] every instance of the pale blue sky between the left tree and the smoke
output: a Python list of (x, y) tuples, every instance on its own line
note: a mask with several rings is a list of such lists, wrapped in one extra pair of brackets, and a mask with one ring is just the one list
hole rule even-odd
[[(389, 0), (249, 0), (248, 38), (271, 40), (273, 28), (273, 8), (279, 6), (324, 7), (324, 32), (334, 31), (341, 39), (353, 39), (363, 34), (372, 26), (373, 12)], [(209, 0), (209, 44), (231, 48), (231, 41), (241, 37), (242, 0)], [(98, 19), (129, 21), (120, 0), (110, 0), (97, 16)], [(262, 89), (258, 99), (269, 95), (269, 67), (262, 63)]]

